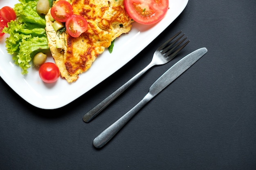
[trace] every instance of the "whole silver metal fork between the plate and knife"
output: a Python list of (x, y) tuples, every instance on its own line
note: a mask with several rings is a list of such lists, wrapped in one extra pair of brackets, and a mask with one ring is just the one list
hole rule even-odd
[[(156, 65), (166, 64), (167, 62), (171, 61), (185, 46), (189, 43), (189, 40), (186, 41), (182, 46), (180, 46), (186, 38), (178, 42), (184, 34), (182, 34), (179, 38), (174, 40), (178, 35), (180, 35), (182, 31), (176, 33), (172, 38), (164, 42), (159, 48), (155, 51), (153, 55), (152, 61), (146, 66), (143, 70), (141, 70), (137, 75), (132, 77), (128, 82), (126, 82), (123, 86), (119, 87), (114, 93), (109, 95), (106, 99), (100, 102), (97, 106), (95, 106), (92, 110), (86, 113), (83, 116), (83, 121), (89, 122), (91, 121), (96, 115), (98, 115), (106, 106), (108, 106), (113, 100), (115, 100), (121, 93), (123, 93), (131, 84), (133, 84), (141, 75), (146, 73), (150, 68)], [(172, 42), (172, 40), (174, 40)], [(180, 47), (179, 47), (180, 46)]]

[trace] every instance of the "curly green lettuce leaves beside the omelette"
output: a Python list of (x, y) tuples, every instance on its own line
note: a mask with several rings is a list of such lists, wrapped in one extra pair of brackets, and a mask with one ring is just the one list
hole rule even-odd
[(17, 18), (8, 23), (3, 32), (10, 36), (6, 38), (7, 52), (13, 56), (14, 63), (27, 74), (29, 63), (35, 52), (49, 51), (45, 32), (45, 18), (36, 12), (38, 0), (19, 0), (14, 5)]

